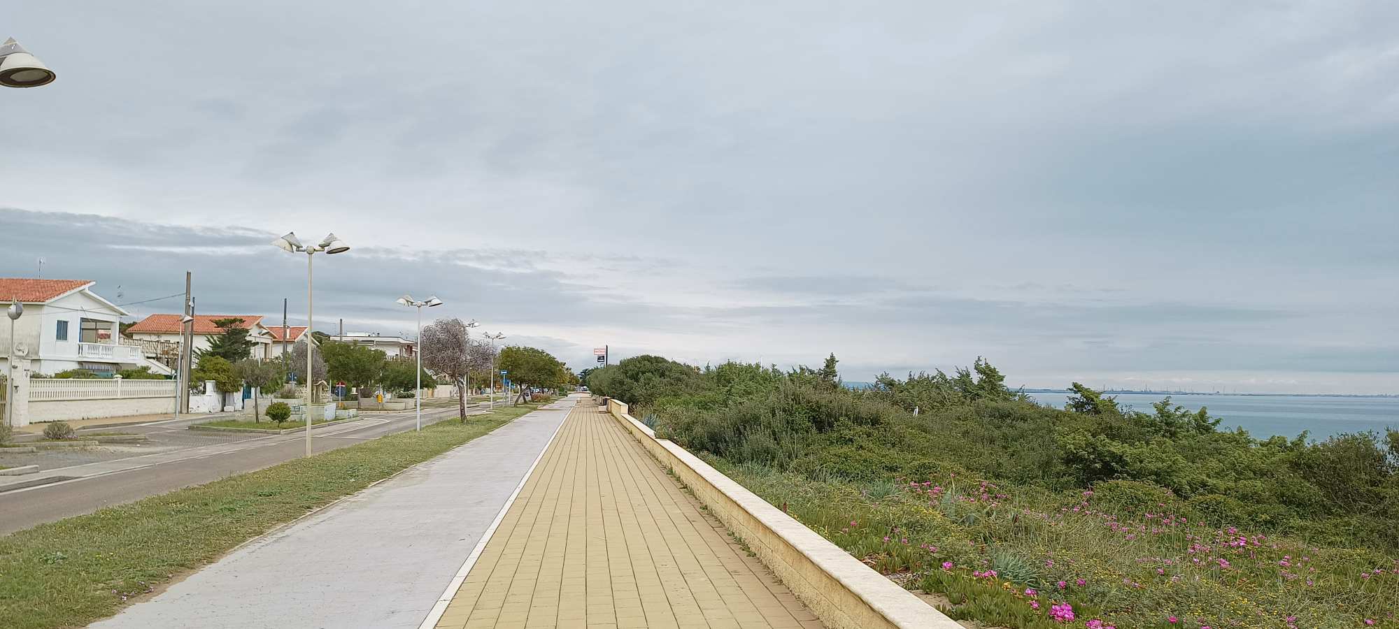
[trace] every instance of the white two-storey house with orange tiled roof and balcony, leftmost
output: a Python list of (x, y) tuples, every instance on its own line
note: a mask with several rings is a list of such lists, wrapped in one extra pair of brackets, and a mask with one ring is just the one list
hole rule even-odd
[[(112, 373), (120, 369), (150, 366), (169, 373), (165, 365), (150, 361), (137, 344), (122, 342), (119, 324), (126, 310), (92, 292), (91, 280), (0, 278), (0, 303), (18, 301), (24, 314), (14, 321), (15, 362), (29, 361), (38, 373), (90, 369)], [(7, 319), (0, 319), (0, 338), (10, 341)], [(7, 347), (0, 344), (0, 348)], [(0, 363), (7, 354), (0, 351)], [(6, 370), (8, 373), (8, 365)]]

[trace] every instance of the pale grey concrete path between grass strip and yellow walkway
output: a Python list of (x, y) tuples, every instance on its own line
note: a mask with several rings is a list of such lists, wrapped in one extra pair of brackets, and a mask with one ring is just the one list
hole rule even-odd
[(417, 628), (576, 398), (263, 535), (92, 628)]

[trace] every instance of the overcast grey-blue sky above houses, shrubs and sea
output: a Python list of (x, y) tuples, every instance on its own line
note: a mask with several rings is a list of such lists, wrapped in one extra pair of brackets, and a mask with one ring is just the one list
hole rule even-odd
[(318, 327), (575, 368), (1399, 393), (1399, 4), (693, 6), (10, 3), (0, 275), (304, 320), (333, 231)]

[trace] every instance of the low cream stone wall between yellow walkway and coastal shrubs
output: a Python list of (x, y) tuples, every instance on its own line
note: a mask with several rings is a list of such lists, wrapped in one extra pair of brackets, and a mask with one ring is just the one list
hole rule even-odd
[(607, 411), (832, 629), (961, 629), (932, 605), (860, 563), (708, 463), (607, 400)]

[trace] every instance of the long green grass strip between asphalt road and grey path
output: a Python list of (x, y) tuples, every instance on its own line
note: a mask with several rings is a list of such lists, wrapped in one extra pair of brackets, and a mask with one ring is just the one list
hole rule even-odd
[(175, 573), (364, 489), (537, 408), (499, 408), (466, 422), (298, 458), (0, 537), (6, 628), (85, 626)]

